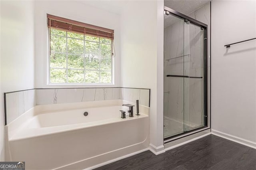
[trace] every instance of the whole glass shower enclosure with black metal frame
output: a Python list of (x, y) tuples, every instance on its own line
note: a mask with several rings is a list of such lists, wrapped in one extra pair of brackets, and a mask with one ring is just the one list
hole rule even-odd
[(207, 126), (207, 25), (164, 8), (164, 139)]

